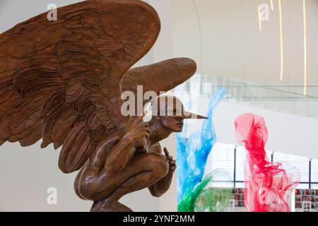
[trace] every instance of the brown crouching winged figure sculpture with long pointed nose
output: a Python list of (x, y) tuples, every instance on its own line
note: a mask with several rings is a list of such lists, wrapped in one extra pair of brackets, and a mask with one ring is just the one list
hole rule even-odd
[(57, 13), (56, 21), (43, 13), (0, 35), (0, 145), (42, 139), (41, 148), (61, 147), (59, 169), (81, 169), (75, 191), (94, 201), (92, 211), (129, 211), (118, 202), (125, 194), (148, 187), (160, 196), (169, 188), (175, 161), (167, 150), (161, 155), (158, 141), (181, 131), (189, 114), (182, 107), (181, 116), (150, 122), (125, 117), (121, 94), (137, 85), (171, 90), (196, 64), (181, 58), (130, 69), (160, 32), (143, 1), (83, 1)]

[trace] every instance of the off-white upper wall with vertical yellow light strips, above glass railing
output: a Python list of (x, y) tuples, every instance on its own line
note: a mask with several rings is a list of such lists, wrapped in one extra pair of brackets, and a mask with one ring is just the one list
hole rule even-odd
[[(259, 31), (257, 6), (269, 5)], [(302, 0), (281, 0), (283, 81), (278, 0), (170, 0), (174, 57), (192, 57), (199, 73), (261, 84), (304, 85)], [(318, 96), (318, 1), (306, 0), (307, 95)]]

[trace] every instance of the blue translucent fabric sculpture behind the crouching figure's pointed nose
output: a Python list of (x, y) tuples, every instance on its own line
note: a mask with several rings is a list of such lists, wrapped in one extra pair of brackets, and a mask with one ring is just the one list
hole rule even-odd
[(182, 133), (177, 133), (178, 203), (192, 194), (204, 176), (206, 160), (216, 143), (213, 109), (223, 99), (225, 93), (225, 88), (221, 88), (211, 97), (208, 105), (208, 119), (204, 120), (200, 131), (192, 133), (187, 138), (187, 125), (185, 125)]

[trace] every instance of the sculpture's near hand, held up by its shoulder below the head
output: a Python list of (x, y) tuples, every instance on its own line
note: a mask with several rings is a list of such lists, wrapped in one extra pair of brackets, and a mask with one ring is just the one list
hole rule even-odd
[(143, 121), (143, 117), (131, 119), (125, 129), (124, 139), (134, 143), (135, 148), (143, 147), (151, 133), (148, 122)]

